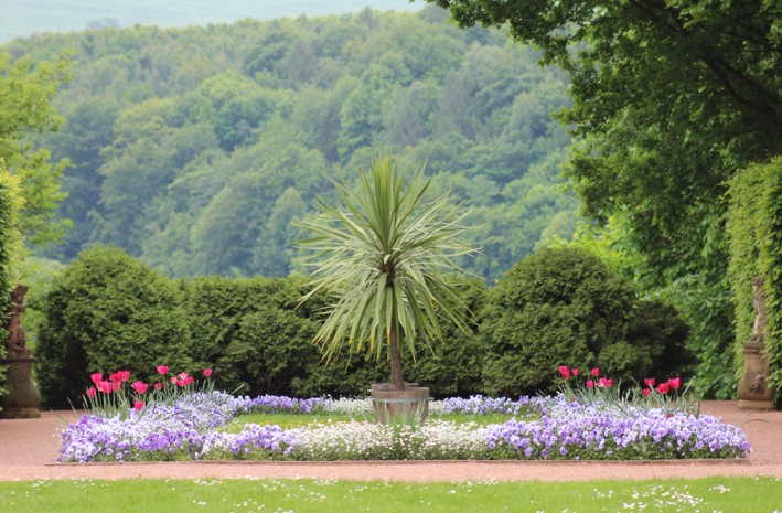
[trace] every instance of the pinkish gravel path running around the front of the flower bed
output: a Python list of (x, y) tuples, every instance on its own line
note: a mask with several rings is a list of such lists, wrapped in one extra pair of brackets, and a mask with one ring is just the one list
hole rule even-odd
[(133, 478), (320, 478), (400, 481), (575, 481), (594, 479), (772, 475), (782, 479), (782, 412), (739, 410), (733, 402), (704, 402), (701, 412), (721, 417), (747, 434), (746, 460), (663, 462), (419, 461), (419, 462), (56, 462), (60, 431), (72, 412), (43, 413), (41, 419), (0, 420), (0, 480)]

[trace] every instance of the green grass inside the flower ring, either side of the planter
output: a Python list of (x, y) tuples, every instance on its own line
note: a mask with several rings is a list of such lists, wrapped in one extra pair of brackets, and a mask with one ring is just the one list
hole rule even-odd
[[(448, 415), (429, 415), (429, 418), (449, 420), (457, 424), (473, 423), (476, 426), (488, 426), (490, 424), (503, 424), (506, 420), (514, 418), (508, 414), (489, 414), (489, 415), (468, 415), (468, 414), (448, 414)], [(222, 429), (226, 432), (239, 432), (245, 424), (258, 424), (260, 426), (270, 424), (277, 425), (282, 429), (300, 428), (313, 424), (331, 424), (331, 423), (357, 423), (374, 421), (372, 415), (335, 415), (335, 414), (264, 414), (255, 413), (240, 415), (231, 420)]]

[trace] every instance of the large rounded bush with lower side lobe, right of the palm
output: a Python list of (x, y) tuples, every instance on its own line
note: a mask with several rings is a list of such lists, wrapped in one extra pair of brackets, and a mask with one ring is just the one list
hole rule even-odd
[(671, 304), (638, 302), (631, 282), (594, 255), (542, 249), (489, 292), (483, 387), (511, 396), (551, 389), (559, 365), (599, 366), (620, 380), (679, 375), (687, 333)]

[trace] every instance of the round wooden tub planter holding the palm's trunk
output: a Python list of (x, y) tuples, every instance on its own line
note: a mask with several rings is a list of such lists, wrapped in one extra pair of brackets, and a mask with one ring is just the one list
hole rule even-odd
[(376, 383), (369, 394), (378, 424), (417, 424), (429, 415), (429, 388), (418, 383), (405, 383), (404, 391), (394, 389), (390, 383)]

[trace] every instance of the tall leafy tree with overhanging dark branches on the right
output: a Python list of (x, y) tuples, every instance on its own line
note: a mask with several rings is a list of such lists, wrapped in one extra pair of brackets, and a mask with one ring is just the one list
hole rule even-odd
[(722, 195), (738, 170), (782, 154), (781, 4), (428, 1), (464, 26), (508, 23), (568, 71), (559, 119), (580, 140), (565, 173), (583, 213), (621, 217), (640, 285), (664, 289), (693, 325), (695, 388), (731, 397)]

